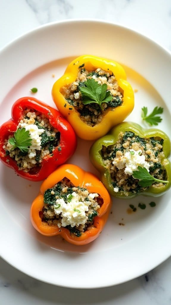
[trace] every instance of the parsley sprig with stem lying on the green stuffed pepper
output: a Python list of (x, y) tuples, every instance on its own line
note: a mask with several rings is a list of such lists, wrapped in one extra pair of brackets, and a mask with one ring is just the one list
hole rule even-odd
[(143, 188), (151, 186), (154, 182), (169, 183), (169, 181), (159, 180), (152, 177), (145, 167), (138, 166), (138, 170), (134, 170), (132, 176), (135, 179), (139, 179), (138, 184)]

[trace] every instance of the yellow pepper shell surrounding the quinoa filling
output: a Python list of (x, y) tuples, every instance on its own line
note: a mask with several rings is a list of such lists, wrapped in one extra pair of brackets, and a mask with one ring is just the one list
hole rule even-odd
[[(107, 110), (99, 124), (93, 127), (85, 124), (80, 115), (74, 107), (71, 108), (70, 104), (66, 101), (61, 93), (61, 88), (67, 84), (71, 84), (77, 78), (79, 66), (84, 64), (87, 70), (96, 70), (98, 67), (101, 69), (112, 72), (118, 85), (123, 92), (123, 103), (114, 109)], [(134, 108), (134, 92), (131, 85), (126, 81), (125, 70), (113, 60), (108, 60), (96, 56), (84, 55), (74, 59), (65, 70), (64, 75), (55, 82), (52, 88), (53, 100), (59, 111), (67, 118), (76, 134), (85, 140), (95, 140), (105, 135), (111, 127), (119, 124), (131, 113)]]

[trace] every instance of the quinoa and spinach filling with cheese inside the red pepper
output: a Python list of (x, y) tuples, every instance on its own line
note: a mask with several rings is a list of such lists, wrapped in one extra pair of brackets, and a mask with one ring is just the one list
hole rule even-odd
[(29, 135), (32, 138), (32, 145), (29, 147), (28, 152), (22, 152), (19, 148), (12, 150), (13, 146), (8, 140), (14, 134), (5, 139), (3, 148), (6, 155), (16, 161), (19, 170), (36, 173), (41, 167), (43, 158), (53, 154), (53, 150), (59, 145), (60, 132), (53, 128), (43, 113), (33, 109), (24, 110), (24, 117), (19, 122), (17, 130), (22, 128), (29, 130)]

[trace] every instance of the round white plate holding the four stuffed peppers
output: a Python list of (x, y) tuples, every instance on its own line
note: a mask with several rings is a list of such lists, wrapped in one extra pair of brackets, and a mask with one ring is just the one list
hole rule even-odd
[[(162, 106), (159, 128), (170, 136), (169, 52), (140, 34), (97, 20), (47, 24), (2, 50), (0, 123), (10, 118), (16, 99), (32, 95), (32, 87), (38, 88), (36, 98), (55, 106), (51, 97), (54, 81), (71, 59), (86, 53), (125, 65), (128, 81), (133, 89), (138, 89), (128, 120), (142, 124), (142, 106), (148, 106), (149, 111), (156, 105)], [(79, 140), (69, 162), (98, 175), (88, 159), (91, 143)], [(79, 247), (59, 236), (44, 237), (32, 228), (29, 210), (39, 185), (17, 177), (0, 164), (0, 255), (20, 271), (55, 285), (96, 288), (138, 277), (170, 256), (170, 192), (158, 199), (141, 196), (113, 200), (112, 214), (101, 235), (91, 244)], [(154, 208), (149, 206), (152, 200), (156, 202)], [(129, 204), (138, 206), (139, 202), (147, 208), (128, 214)]]

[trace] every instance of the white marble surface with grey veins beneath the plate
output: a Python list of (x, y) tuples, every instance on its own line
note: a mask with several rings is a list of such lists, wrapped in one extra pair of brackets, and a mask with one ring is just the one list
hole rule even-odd
[[(171, 50), (170, 0), (0, 0), (0, 48), (44, 23), (68, 18), (98, 18), (119, 23)], [(92, 290), (39, 282), (0, 259), (0, 303), (7, 305), (167, 305), (171, 304), (170, 281), (171, 258), (140, 278)]]

